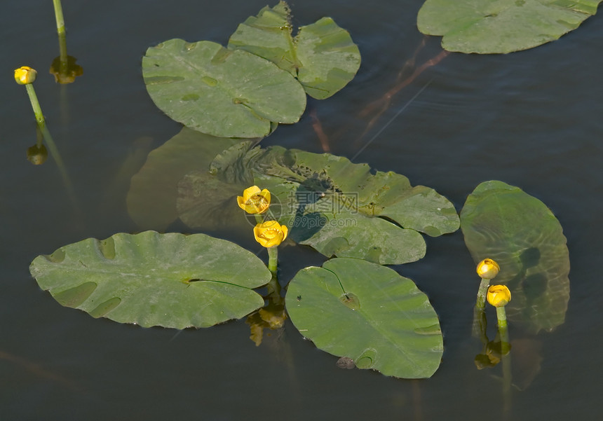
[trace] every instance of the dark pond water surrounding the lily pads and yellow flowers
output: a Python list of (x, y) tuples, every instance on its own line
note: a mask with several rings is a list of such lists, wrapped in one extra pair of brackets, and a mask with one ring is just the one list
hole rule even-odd
[[(471, 336), (471, 320), (479, 279), (460, 231), (427, 238), (424, 259), (395, 267), (429, 296), (440, 317), (445, 352), (427, 380), (342, 370), (337, 357), (317, 350), (288, 321), (256, 347), (244, 320), (199, 330), (142, 329), (58, 305), (29, 275), (29, 263), (87, 237), (140, 230), (126, 209), (130, 177), (148, 151), (180, 130), (147, 95), (140, 68), (145, 50), (171, 38), (226, 44), (238, 23), (266, 3), (65, 0), (68, 52), (84, 73), (57, 85), (47, 74), (58, 55), (53, 7), (32, 0), (27, 7), (8, 2), (0, 15), (0, 418), (595, 419), (603, 392), (597, 336), (603, 329), (603, 18), (595, 15), (533, 50), (447, 55), (394, 95), (359, 139), (369, 120), (359, 113), (395, 87), (405, 64), (416, 57), (418, 68), (442, 51), (440, 39), (424, 39), (416, 29), (421, 4), (291, 1), (297, 26), (331, 16), (348, 29), (363, 63), (344, 90), (309, 100), (299, 123), (278, 127), (262, 144), (322, 152), (315, 112), (332, 153), (405, 174), (447, 196), (457, 210), (489, 179), (545, 202), (567, 236), (571, 296), (566, 322), (553, 332), (528, 335), (510, 324), (512, 340), (520, 340), (512, 355), (522, 390), (505, 397), (500, 367), (475, 368), (481, 344)], [(39, 71), (36, 92), (77, 209), (52, 158), (41, 166), (25, 158), (36, 127), (25, 89), (12, 77), (22, 65)], [(181, 223), (169, 230), (191, 232)], [(266, 260), (247, 234), (222, 236)], [(286, 247), (280, 261), (287, 282), (325, 258)]]

